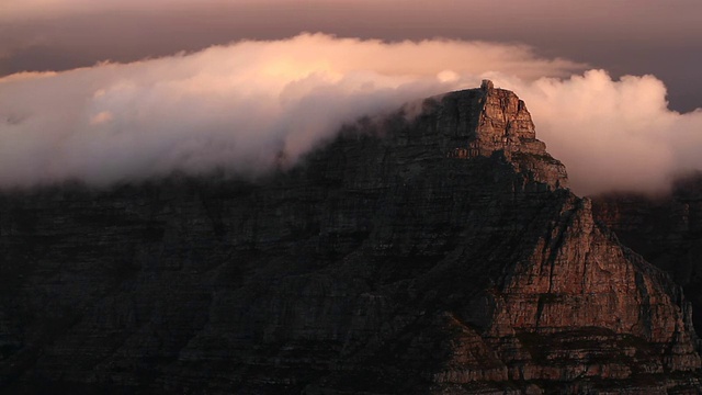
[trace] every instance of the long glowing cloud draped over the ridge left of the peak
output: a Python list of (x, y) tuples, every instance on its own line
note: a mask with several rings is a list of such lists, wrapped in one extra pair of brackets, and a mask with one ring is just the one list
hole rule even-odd
[(260, 172), (344, 122), (474, 86), (485, 70), (533, 79), (576, 67), (512, 45), (304, 34), (13, 75), (0, 79), (0, 185), (107, 184), (218, 166)]

